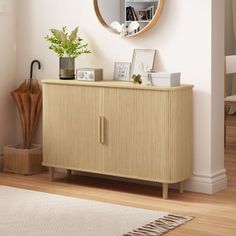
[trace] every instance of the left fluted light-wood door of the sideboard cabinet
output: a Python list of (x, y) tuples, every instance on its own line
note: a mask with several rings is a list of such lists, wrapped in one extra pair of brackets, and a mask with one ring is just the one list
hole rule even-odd
[(100, 90), (55, 84), (43, 86), (43, 164), (101, 171)]

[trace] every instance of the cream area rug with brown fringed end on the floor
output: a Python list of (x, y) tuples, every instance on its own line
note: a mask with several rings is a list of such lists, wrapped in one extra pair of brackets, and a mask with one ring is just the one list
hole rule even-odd
[(4, 236), (158, 236), (189, 220), (167, 212), (0, 186)]

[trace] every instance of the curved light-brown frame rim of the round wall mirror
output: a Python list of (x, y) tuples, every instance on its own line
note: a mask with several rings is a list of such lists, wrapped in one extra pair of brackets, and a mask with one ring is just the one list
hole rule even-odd
[[(148, 30), (150, 30), (157, 22), (158, 20), (160, 19), (161, 17), (161, 13), (162, 13), (162, 10), (163, 10), (163, 7), (164, 7), (164, 2), (165, 0), (159, 0), (159, 6), (158, 6), (158, 9), (156, 10), (155, 12), (155, 15), (153, 17), (153, 19), (151, 20), (151, 22), (149, 24), (147, 24), (146, 27), (144, 27), (142, 30), (140, 30), (139, 32), (135, 33), (135, 34), (131, 34), (131, 35), (128, 35), (126, 37), (134, 37), (134, 36), (137, 36), (137, 35), (140, 35), (142, 33), (145, 33), (147, 32)], [(110, 32), (112, 33), (115, 33), (117, 34), (114, 30), (112, 30), (110, 28), (109, 25), (107, 25), (107, 23), (104, 21), (101, 13), (100, 13), (100, 10), (99, 10), (99, 7), (98, 7), (98, 0), (93, 0), (93, 6), (94, 6), (94, 10), (95, 10), (95, 13), (97, 15), (97, 18), (99, 20), (99, 22), (107, 29), (109, 30)]]

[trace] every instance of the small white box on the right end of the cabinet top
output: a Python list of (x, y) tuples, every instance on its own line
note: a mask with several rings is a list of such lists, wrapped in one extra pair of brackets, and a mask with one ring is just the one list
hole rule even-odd
[(142, 77), (144, 84), (160, 87), (177, 87), (180, 86), (181, 73), (156, 72), (149, 73)]

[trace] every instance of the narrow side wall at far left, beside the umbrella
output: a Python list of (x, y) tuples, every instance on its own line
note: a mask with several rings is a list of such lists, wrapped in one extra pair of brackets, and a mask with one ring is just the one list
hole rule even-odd
[(15, 0), (0, 1), (0, 155), (3, 145), (15, 142), (16, 113), (10, 96), (16, 84), (15, 18)]

